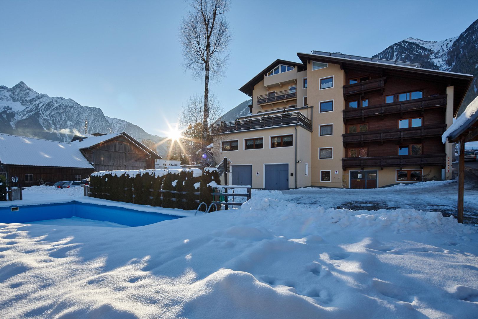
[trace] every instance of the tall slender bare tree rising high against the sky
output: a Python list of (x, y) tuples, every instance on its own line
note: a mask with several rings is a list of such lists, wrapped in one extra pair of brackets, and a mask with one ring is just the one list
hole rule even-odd
[[(231, 40), (229, 23), (224, 13), (229, 0), (190, 0), (190, 11), (183, 19), (180, 39), (183, 45), (185, 66), (196, 77), (204, 75), (204, 99), (202, 111), (202, 136), (207, 140), (209, 127), (209, 77), (221, 75), (228, 59)], [(197, 123), (197, 122), (196, 122)], [(207, 144), (202, 143), (205, 150)]]

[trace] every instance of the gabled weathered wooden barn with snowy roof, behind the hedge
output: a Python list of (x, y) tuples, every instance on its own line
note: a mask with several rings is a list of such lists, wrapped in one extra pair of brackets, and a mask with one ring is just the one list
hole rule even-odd
[(76, 135), (71, 142), (93, 164), (95, 171), (154, 169), (161, 156), (125, 132)]

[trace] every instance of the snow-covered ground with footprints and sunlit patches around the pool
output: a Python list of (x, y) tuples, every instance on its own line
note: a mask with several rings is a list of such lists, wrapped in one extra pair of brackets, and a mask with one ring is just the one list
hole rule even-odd
[(141, 227), (0, 224), (0, 317), (476, 317), (478, 227), (409, 208), (335, 209), (337, 194), (358, 194), (314, 202), (316, 191), (256, 191), (241, 209)]

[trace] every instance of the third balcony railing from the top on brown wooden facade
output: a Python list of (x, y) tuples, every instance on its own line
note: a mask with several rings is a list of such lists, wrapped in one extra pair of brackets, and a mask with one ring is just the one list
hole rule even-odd
[(392, 141), (409, 138), (423, 138), (441, 136), (445, 132), (446, 124), (429, 127), (413, 127), (376, 132), (348, 133), (342, 135), (342, 141), (347, 143), (364, 143), (375, 141)]

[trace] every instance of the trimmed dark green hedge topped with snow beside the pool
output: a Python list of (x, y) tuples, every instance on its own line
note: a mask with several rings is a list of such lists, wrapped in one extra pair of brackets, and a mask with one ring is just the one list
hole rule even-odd
[(90, 196), (191, 210), (197, 208), (196, 200), (212, 202), (212, 187), (207, 185), (212, 181), (220, 183), (214, 168), (103, 171), (90, 176)]

